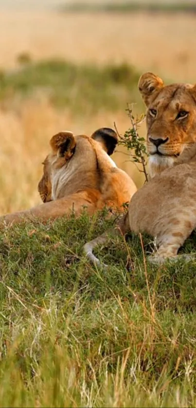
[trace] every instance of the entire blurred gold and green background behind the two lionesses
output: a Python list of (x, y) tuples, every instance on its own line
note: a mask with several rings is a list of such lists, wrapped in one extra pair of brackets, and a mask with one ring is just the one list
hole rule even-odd
[[(195, 0), (0, 0), (0, 213), (40, 203), (54, 133), (123, 134), (144, 71), (195, 83), (195, 42)], [(143, 184), (120, 146), (113, 159)]]

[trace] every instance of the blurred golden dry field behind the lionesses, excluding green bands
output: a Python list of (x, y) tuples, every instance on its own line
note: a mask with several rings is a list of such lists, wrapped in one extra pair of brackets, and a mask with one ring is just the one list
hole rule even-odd
[[(33, 61), (60, 57), (75, 64), (128, 63), (139, 72), (154, 71), (166, 81), (194, 82), (196, 66), (196, 18), (190, 15), (60, 14), (51, 11), (0, 13), (0, 69), (18, 68), (17, 57), (29, 53)], [(134, 102), (134, 101), (127, 101)], [(85, 103), (85, 102), (84, 102)], [(40, 199), (36, 190), (41, 162), (49, 139), (62, 129), (90, 134), (101, 126), (120, 133), (130, 125), (125, 107), (104, 106), (95, 114), (74, 114), (57, 109), (45, 94), (16, 98), (0, 110), (0, 213), (28, 208)], [(137, 111), (144, 111), (141, 104)], [(141, 134), (144, 134), (144, 125)], [(122, 150), (122, 149), (118, 149)], [(141, 184), (125, 154), (114, 160)]]

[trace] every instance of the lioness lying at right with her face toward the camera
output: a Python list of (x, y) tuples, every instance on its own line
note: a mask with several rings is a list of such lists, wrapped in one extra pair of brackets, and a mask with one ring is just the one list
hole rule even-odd
[[(147, 233), (158, 251), (149, 257), (162, 263), (176, 259), (178, 249), (196, 228), (196, 85), (163, 85), (153, 73), (144, 73), (138, 84), (147, 106), (148, 181), (131, 198), (128, 213), (115, 232)], [(85, 245), (89, 259), (107, 233)]]

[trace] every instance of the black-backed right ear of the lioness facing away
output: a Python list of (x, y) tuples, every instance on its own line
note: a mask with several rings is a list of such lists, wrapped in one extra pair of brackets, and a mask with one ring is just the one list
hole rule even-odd
[(117, 133), (110, 127), (101, 127), (91, 135), (91, 138), (101, 143), (109, 156), (112, 155), (118, 143)]

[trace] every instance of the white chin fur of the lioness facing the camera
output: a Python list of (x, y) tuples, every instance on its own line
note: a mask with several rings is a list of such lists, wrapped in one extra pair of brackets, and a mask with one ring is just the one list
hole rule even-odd
[(155, 177), (168, 167), (172, 167), (175, 158), (172, 156), (150, 155), (148, 159), (150, 177)]

